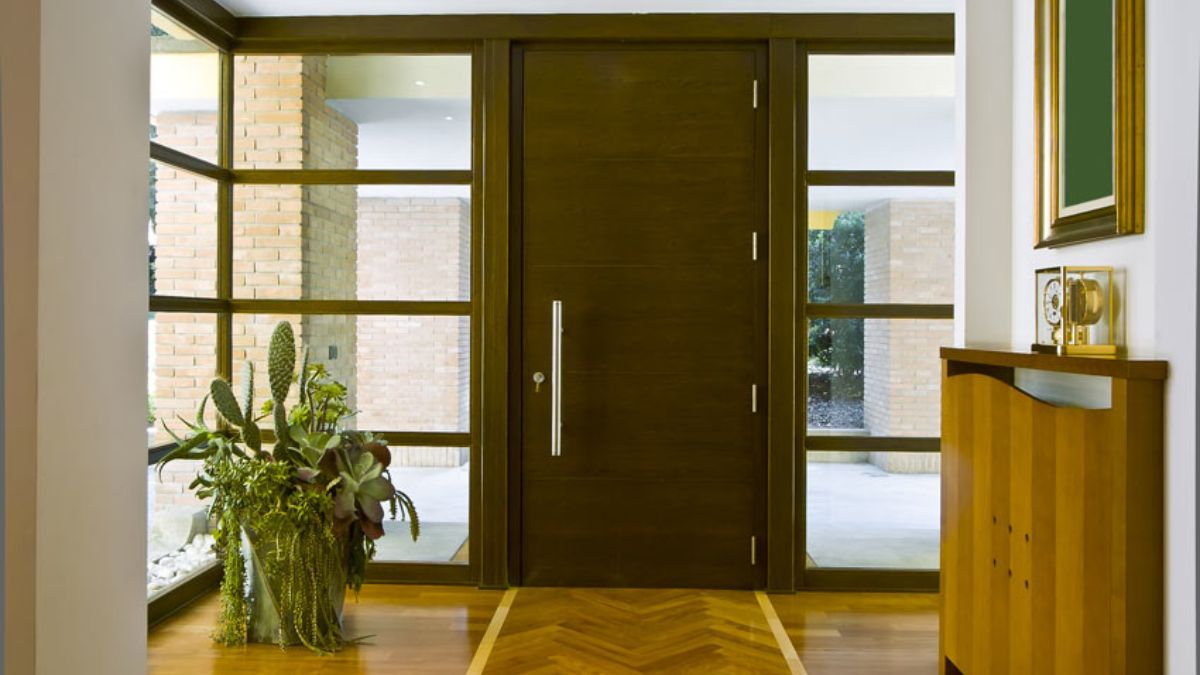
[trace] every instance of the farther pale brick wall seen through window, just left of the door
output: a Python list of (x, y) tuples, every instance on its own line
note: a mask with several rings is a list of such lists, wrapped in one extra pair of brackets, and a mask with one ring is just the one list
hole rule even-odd
[[(359, 199), (359, 298), (470, 298), (470, 203), (457, 197)], [(470, 322), (359, 317), (359, 424), (467, 431)], [(395, 448), (402, 466), (458, 466), (458, 448)]]

